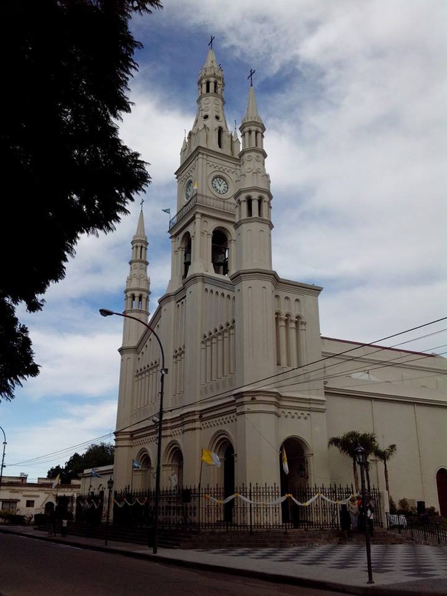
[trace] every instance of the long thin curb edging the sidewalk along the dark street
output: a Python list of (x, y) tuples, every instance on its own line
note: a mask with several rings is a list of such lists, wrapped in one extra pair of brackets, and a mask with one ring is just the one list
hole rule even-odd
[(18, 532), (15, 530), (5, 530), (0, 527), (0, 533), (13, 534), (23, 538), (31, 538), (33, 540), (41, 540), (44, 542), (53, 542), (54, 544), (64, 544), (70, 547), (82, 548), (83, 550), (106, 552), (110, 554), (122, 555), (123, 557), (137, 558), (140, 560), (151, 561), (151, 563), (160, 563), (164, 565), (174, 565), (176, 567), (189, 567), (191, 569), (201, 569), (214, 573), (226, 573), (228, 575), (241, 576), (244, 578), (260, 579), (271, 583), (287, 583), (288, 585), (296, 585), (302, 588), (316, 588), (332, 590), (333, 592), (342, 592), (343, 594), (358, 594), (363, 596), (369, 594), (370, 596), (443, 596), (440, 592), (421, 592), (420, 590), (406, 590), (393, 589), (390, 586), (353, 586), (345, 583), (330, 582), (323, 579), (299, 578), (297, 576), (283, 575), (280, 573), (268, 573), (265, 571), (254, 571), (252, 569), (237, 569), (234, 567), (226, 567), (212, 563), (200, 563), (199, 561), (185, 561), (183, 559), (175, 559), (170, 557), (163, 557), (163, 555), (154, 555), (151, 552), (134, 552), (129, 550), (121, 550), (114, 547), (86, 544), (84, 542), (75, 542), (70, 539), (58, 539), (51, 536), (35, 536), (27, 532)]

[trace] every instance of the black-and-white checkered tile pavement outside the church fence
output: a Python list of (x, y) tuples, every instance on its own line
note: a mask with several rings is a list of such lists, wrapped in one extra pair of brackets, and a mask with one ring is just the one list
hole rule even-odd
[[(225, 554), (253, 560), (320, 566), (323, 569), (359, 569), (367, 572), (365, 548), (358, 545), (291, 548), (224, 548), (207, 550), (208, 554)], [(371, 545), (373, 573), (398, 573), (401, 581), (447, 576), (447, 548), (412, 544)]]

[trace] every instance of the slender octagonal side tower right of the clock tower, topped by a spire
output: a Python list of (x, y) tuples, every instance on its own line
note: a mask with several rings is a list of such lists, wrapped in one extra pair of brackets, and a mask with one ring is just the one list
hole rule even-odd
[(240, 175), (235, 184), (236, 264), (234, 283), (236, 384), (242, 386), (276, 372), (274, 283), (271, 247), (270, 178), (265, 171), (265, 126), (257, 113), (250, 84), (246, 113), (240, 127)]

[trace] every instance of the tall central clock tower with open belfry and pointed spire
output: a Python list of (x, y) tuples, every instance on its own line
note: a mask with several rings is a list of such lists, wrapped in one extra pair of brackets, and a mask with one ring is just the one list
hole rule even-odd
[(235, 182), (240, 141), (224, 113), (224, 72), (209, 49), (198, 73), (197, 113), (185, 135), (177, 178), (177, 213), (170, 221), (171, 278), (176, 291), (193, 274), (228, 276), (235, 266)]

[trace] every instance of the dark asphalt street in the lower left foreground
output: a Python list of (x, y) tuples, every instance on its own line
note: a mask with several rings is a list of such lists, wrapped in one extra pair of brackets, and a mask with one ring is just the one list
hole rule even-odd
[(328, 596), (336, 593), (340, 594), (0, 535), (1, 596)]

